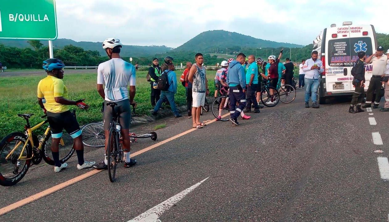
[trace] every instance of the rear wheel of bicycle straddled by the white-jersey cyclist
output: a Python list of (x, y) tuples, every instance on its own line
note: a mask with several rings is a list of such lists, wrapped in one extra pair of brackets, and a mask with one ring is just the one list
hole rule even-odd
[(115, 128), (109, 130), (108, 146), (107, 146), (107, 159), (108, 159), (108, 177), (113, 183), (116, 176), (116, 166), (118, 163), (117, 150), (119, 150), (119, 141)]

